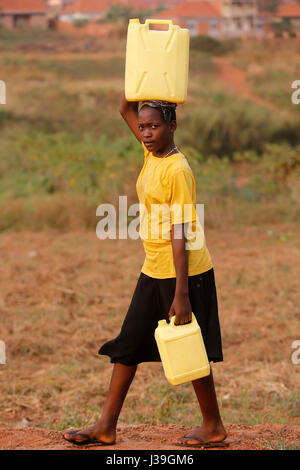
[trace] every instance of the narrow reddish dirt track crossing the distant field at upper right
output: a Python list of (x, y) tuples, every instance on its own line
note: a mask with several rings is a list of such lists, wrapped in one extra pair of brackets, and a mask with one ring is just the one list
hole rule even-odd
[(266, 106), (272, 111), (278, 111), (278, 108), (266, 101), (259, 96), (255, 95), (249, 90), (245, 72), (243, 70), (238, 69), (237, 67), (233, 66), (228, 62), (228, 59), (224, 57), (215, 57), (214, 62), (219, 67), (219, 78), (224, 82), (228, 83), (230, 87), (240, 96), (253, 101), (254, 103), (261, 104)]

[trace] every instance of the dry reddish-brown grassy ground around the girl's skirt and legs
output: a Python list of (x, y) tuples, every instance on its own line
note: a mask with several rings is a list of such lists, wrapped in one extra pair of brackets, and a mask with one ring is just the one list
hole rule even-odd
[[(297, 234), (292, 224), (206, 229), (226, 361), (214, 376), (232, 450), (300, 448), (297, 371), (290, 360), (299, 305)], [(111, 366), (96, 362), (95, 351), (120, 327), (143, 260), (141, 244), (103, 242), (93, 232), (3, 233), (0, 254), (0, 339), (7, 345), (0, 449), (186, 450), (172, 441), (191, 429), (194, 406), (182, 394), (163, 408), (171, 390), (155, 363), (140, 366), (115, 446), (77, 447), (57, 430), (91, 424), (103, 406)], [(161, 422), (164, 413), (171, 424), (142, 424)], [(258, 419), (268, 422), (231, 424)], [(23, 421), (30, 426), (21, 427)]]

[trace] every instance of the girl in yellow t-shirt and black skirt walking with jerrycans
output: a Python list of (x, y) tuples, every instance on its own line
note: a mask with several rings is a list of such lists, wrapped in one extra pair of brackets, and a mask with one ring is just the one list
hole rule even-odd
[[(146, 257), (120, 334), (99, 350), (99, 354), (109, 356), (114, 364), (102, 415), (92, 426), (62, 433), (74, 444), (112, 445), (116, 442), (117, 420), (138, 364), (160, 361), (154, 339), (159, 320), (170, 320), (175, 315), (175, 325), (182, 325), (191, 321), (193, 312), (201, 327), (209, 361), (223, 360), (214, 270), (205, 239), (201, 247), (186, 248), (187, 231), (192, 226), (193, 233), (197, 233), (199, 222), (194, 207), (194, 176), (174, 143), (175, 108), (173, 103), (145, 101), (139, 109), (138, 102), (127, 102), (125, 96), (121, 101), (120, 113), (145, 154), (137, 194), (144, 208), (144, 212), (140, 212), (140, 236)], [(152, 210), (155, 204), (172, 207), (169, 231), (157, 211)], [(189, 207), (187, 213), (181, 210), (185, 205)], [(153, 236), (152, 232), (149, 236), (149, 226), (161, 229), (164, 236)], [(174, 444), (187, 447), (228, 445), (212, 372), (192, 384), (203, 422)]]

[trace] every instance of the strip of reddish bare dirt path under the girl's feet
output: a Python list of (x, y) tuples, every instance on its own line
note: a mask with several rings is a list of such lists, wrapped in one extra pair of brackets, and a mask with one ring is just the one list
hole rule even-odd
[[(232, 424), (227, 426), (227, 430), (230, 444), (227, 449), (231, 450), (288, 449), (297, 444), (297, 438), (299, 443), (300, 426), (263, 424), (248, 427)], [(171, 442), (187, 431), (188, 428), (178, 425), (119, 425), (116, 445), (102, 447), (97, 444), (75, 446), (62, 439), (59, 431), (43, 428), (0, 428), (0, 448), (17, 450), (186, 450), (187, 448), (177, 447)]]

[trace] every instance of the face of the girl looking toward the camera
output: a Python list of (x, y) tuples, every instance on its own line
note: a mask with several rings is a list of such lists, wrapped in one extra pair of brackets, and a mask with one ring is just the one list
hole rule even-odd
[(164, 153), (174, 144), (176, 121), (167, 123), (158, 109), (143, 106), (138, 115), (141, 139), (150, 152)]

